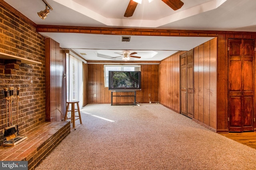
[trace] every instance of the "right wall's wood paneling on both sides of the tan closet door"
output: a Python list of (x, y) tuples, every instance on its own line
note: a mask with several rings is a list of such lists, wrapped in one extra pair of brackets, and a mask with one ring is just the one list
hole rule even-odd
[[(160, 64), (160, 103), (180, 112), (180, 55), (178, 52)], [(198, 123), (217, 128), (216, 81), (217, 38), (194, 48), (194, 118)]]

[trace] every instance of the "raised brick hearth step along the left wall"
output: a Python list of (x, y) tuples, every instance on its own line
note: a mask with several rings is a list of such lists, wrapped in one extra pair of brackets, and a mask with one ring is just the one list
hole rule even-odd
[(34, 168), (70, 133), (70, 121), (44, 122), (26, 132), (24, 141), (14, 146), (0, 147), (1, 161), (28, 161)]

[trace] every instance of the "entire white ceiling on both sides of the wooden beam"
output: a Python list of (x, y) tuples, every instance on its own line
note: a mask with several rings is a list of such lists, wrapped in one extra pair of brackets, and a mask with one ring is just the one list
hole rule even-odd
[[(142, 0), (134, 15), (124, 17), (130, 0), (46, 0), (53, 8), (45, 20), (37, 12), (45, 9), (42, 0), (4, 0), (38, 25), (85, 27), (127, 27), (216, 31), (255, 31), (256, 0), (182, 0), (184, 6), (172, 10), (162, 0)], [(211, 37), (131, 36), (81, 33), (41, 33), (72, 49), (86, 60), (121, 60), (123, 50), (136, 52), (135, 61), (161, 61), (179, 50), (190, 50)], [(153, 53), (157, 53), (153, 55)]]

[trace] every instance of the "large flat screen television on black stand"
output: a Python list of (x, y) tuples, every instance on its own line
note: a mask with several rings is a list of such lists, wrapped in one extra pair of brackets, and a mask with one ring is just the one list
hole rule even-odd
[(141, 90), (140, 71), (109, 71), (109, 90)]

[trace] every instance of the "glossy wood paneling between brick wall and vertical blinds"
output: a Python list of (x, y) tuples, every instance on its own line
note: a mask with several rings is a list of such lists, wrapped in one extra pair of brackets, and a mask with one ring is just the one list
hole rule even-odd
[(66, 112), (66, 56), (60, 44), (45, 39), (46, 121), (60, 121)]

